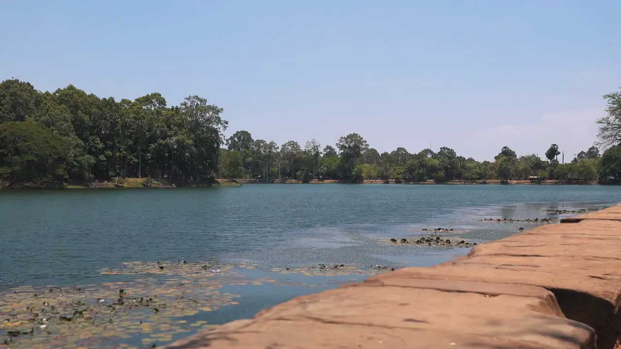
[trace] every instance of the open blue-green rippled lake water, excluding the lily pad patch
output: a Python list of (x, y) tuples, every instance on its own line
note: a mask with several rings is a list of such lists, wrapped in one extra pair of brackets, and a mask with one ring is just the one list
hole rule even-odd
[[(233, 302), (238, 304), (223, 303), (214, 311), (179, 317), (188, 323), (222, 324), (252, 317), (291, 297), (368, 276), (283, 274), (284, 268), (319, 263), (369, 269), (374, 265), (433, 265), (467, 250), (404, 247), (383, 240), (412, 237), (423, 228), (436, 227), (455, 229), (467, 239), (494, 240), (535, 225), (481, 219), (558, 219), (546, 209), (594, 210), (620, 201), (619, 186), (249, 184), (204, 189), (2, 191), (0, 292), (4, 293), (0, 296), (26, 286), (140, 281), (146, 277), (143, 269), (156, 270), (156, 266), (137, 266), (133, 274), (106, 271), (124, 270), (124, 262), (178, 265), (179, 260), (186, 260), (192, 265), (207, 263), (204, 273), (220, 268), (219, 278), (237, 273), (237, 278), (245, 280), (222, 281), (225, 286), (220, 292), (239, 296)], [(240, 267), (240, 263), (252, 268)], [(173, 333), (172, 339), (195, 329)], [(138, 331), (118, 343), (140, 347), (150, 343), (146, 336)], [(171, 340), (161, 338), (152, 338), (153, 343)]]

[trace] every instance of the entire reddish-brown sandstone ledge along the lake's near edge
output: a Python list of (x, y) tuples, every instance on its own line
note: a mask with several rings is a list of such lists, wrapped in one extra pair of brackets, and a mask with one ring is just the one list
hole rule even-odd
[(621, 348), (621, 206), (563, 222), (297, 297), (169, 348)]

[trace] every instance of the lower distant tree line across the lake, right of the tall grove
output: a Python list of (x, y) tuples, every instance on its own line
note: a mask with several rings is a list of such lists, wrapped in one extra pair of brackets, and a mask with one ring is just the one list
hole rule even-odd
[[(222, 149), (219, 175), (226, 178), (268, 179), (397, 179), (402, 181), (446, 182), (487, 179), (573, 179), (593, 181), (606, 174), (599, 150), (591, 147), (580, 152), (571, 163), (560, 164), (558, 145), (546, 151), (547, 160), (537, 155), (517, 156), (503, 147), (495, 160), (479, 162), (459, 156), (455, 150), (442, 147), (438, 152), (425, 149), (409, 153), (405, 148), (379, 153), (359, 134), (341, 137), (334, 148), (321, 150), (316, 140), (304, 147), (289, 141), (278, 147), (274, 142), (254, 140), (250, 132), (235, 132)], [(621, 159), (621, 154), (620, 154)]]

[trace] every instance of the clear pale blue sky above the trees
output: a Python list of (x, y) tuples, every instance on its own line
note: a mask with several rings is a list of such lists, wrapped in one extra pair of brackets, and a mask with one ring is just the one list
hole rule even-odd
[(592, 145), (621, 86), (621, 1), (1, 1), (0, 79), (198, 94), (227, 134), (491, 160)]

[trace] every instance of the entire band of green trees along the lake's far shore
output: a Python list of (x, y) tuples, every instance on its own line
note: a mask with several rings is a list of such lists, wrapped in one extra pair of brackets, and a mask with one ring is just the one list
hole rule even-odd
[[(560, 146), (543, 158), (502, 147), (477, 161), (447, 147), (379, 153), (356, 133), (334, 146), (311, 139), (282, 145), (247, 130), (224, 137), (219, 106), (188, 96), (168, 106), (159, 93), (133, 101), (73, 85), (38, 91), (0, 83), (0, 188), (143, 188), (276, 183), (619, 183), (621, 91), (604, 96), (599, 135), (574, 158)], [(564, 163), (563, 163), (564, 162)]]

